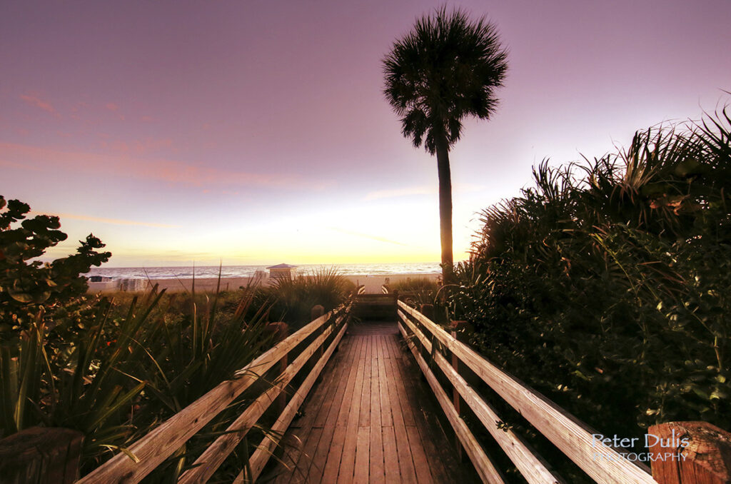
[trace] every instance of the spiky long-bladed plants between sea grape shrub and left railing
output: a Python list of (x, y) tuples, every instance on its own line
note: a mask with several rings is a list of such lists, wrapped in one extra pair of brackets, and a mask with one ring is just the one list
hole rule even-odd
[[(199, 306), (190, 295), (184, 312), (163, 293), (134, 298), (126, 308), (102, 299), (70, 339), (39, 318), (23, 331), (17, 348), (3, 348), (2, 398), (10, 402), (3, 406), (4, 433), (39, 424), (82, 431), (82, 474), (109, 458), (110, 450), (126, 452), (126, 445), (232, 378), (270, 344), (263, 332), (265, 309), (243, 319), (249, 295), (227, 317), (216, 308), (217, 298)], [(241, 404), (216, 417), (205, 436), (184, 445), (154, 478), (179, 475), (227, 428)]]

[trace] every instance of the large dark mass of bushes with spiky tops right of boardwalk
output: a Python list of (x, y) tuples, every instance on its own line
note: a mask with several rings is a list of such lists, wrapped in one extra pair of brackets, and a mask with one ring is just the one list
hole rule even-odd
[(722, 110), (535, 168), (458, 265), (471, 344), (605, 433), (731, 428), (730, 140)]

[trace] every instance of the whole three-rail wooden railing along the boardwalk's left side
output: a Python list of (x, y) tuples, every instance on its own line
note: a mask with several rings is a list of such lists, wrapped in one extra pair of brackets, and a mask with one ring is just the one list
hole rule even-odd
[[(292, 394), (289, 403), (286, 406), (282, 406), (284, 408), (281, 409), (276, 423), (271, 428), (272, 434), (283, 433), (289, 427), (308, 391), (314, 385), (322, 368), (325, 367), (325, 363), (327, 363), (330, 355), (333, 354), (346, 332), (346, 308), (330, 311), (327, 314), (322, 314), (322, 306), (315, 306), (313, 311), (317, 311), (318, 308), (319, 315), (316, 315), (319, 317), (314, 319), (314, 321), (291, 336), (279, 341), (279, 343), (259, 358), (256, 358), (246, 367), (241, 368), (236, 372), (234, 379), (222, 382), (181, 412), (170, 417), (169, 420), (155, 428), (154, 431), (151, 431), (142, 439), (129, 446), (129, 453), (135, 456), (134, 459), (124, 453), (115, 455), (110, 461), (94, 469), (94, 471), (87, 474), (78, 482), (82, 484), (129, 484), (140, 482), (146, 475), (162, 464), (165, 459), (178, 451), (206, 423), (213, 420), (213, 417), (216, 417), (219, 412), (226, 409), (244, 390), (249, 388), (254, 382), (257, 382), (270, 368), (277, 363), (286, 362), (287, 355), (289, 355), (292, 349), (298, 347), (308, 336), (317, 335), (292, 360), (292, 363), (286, 366), (283, 365), (284, 368), (275, 380), (274, 385), (256, 398), (249, 407), (246, 407), (243, 413), (227, 428), (227, 431), (221, 434), (197, 458), (194, 464), (192, 464), (191, 469), (182, 474), (178, 483), (205, 483), (216, 472), (216, 469), (218, 469), (232, 450), (234, 450), (241, 439), (246, 436), (246, 433), (262, 417), (264, 412), (275, 401), (278, 401), (278, 398), (281, 402), (283, 390), (292, 382), (295, 374), (303, 368), (312, 355), (317, 353), (317, 362), (295, 393)], [(279, 324), (284, 325), (284, 323)], [(327, 345), (327, 349), (324, 349), (326, 341), (330, 341), (330, 344)], [(271, 454), (271, 450), (275, 445), (276, 442), (273, 442), (271, 436), (265, 437), (249, 459), (251, 474), (245, 476), (241, 472), (235, 482), (254, 482), (260, 472), (262, 472)]]

